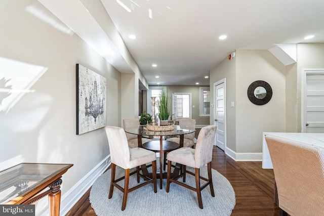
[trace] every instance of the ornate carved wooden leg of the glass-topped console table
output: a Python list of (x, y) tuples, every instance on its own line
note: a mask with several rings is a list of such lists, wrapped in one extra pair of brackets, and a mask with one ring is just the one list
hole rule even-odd
[(49, 210), (50, 216), (59, 216), (60, 215), (60, 204), (61, 204), (61, 190), (60, 185), (62, 180), (59, 179), (53, 183), (50, 188), (52, 192), (49, 194)]

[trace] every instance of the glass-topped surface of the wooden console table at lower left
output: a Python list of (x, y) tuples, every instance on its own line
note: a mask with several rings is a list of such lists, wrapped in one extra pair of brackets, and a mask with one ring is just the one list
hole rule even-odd
[(0, 171), (0, 204), (33, 190), (73, 164), (20, 163)]

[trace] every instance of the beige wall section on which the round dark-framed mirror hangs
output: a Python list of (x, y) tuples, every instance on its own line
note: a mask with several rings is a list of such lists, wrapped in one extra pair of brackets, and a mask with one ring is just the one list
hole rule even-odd
[[(236, 152), (262, 152), (263, 132), (285, 132), (285, 66), (265, 50), (236, 51)], [(268, 82), (272, 98), (265, 105), (251, 103), (249, 85)], [(230, 88), (230, 87), (228, 87)]]

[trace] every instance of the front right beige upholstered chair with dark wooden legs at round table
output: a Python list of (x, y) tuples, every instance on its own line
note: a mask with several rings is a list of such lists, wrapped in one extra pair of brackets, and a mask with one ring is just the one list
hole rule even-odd
[[(176, 149), (174, 151), (169, 152), (167, 155), (167, 159), (168, 159), (167, 192), (169, 192), (170, 189), (170, 182), (176, 183), (190, 190), (196, 191), (199, 208), (203, 208), (203, 201), (201, 200), (201, 190), (203, 190), (205, 187), (209, 185), (212, 196), (213, 197), (215, 196), (213, 180), (212, 180), (212, 154), (213, 154), (215, 134), (216, 134), (216, 125), (205, 126), (200, 129), (195, 149), (189, 147), (182, 147), (180, 149)], [(179, 176), (174, 178), (170, 178), (171, 162), (183, 164), (184, 166), (183, 174), (180, 174)], [(208, 179), (201, 177), (199, 174), (199, 169), (203, 167), (205, 164), (207, 164)], [(194, 167), (195, 173), (187, 171), (186, 166)], [(186, 173), (195, 176), (196, 188), (193, 188), (189, 185), (177, 181), (177, 179), (182, 176), (183, 182), (185, 182)], [(203, 179), (207, 182), (200, 187), (199, 179)]]

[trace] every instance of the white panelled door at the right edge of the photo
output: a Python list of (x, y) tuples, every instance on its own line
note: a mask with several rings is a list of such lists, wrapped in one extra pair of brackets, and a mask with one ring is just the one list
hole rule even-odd
[(305, 71), (303, 131), (324, 133), (324, 70)]

